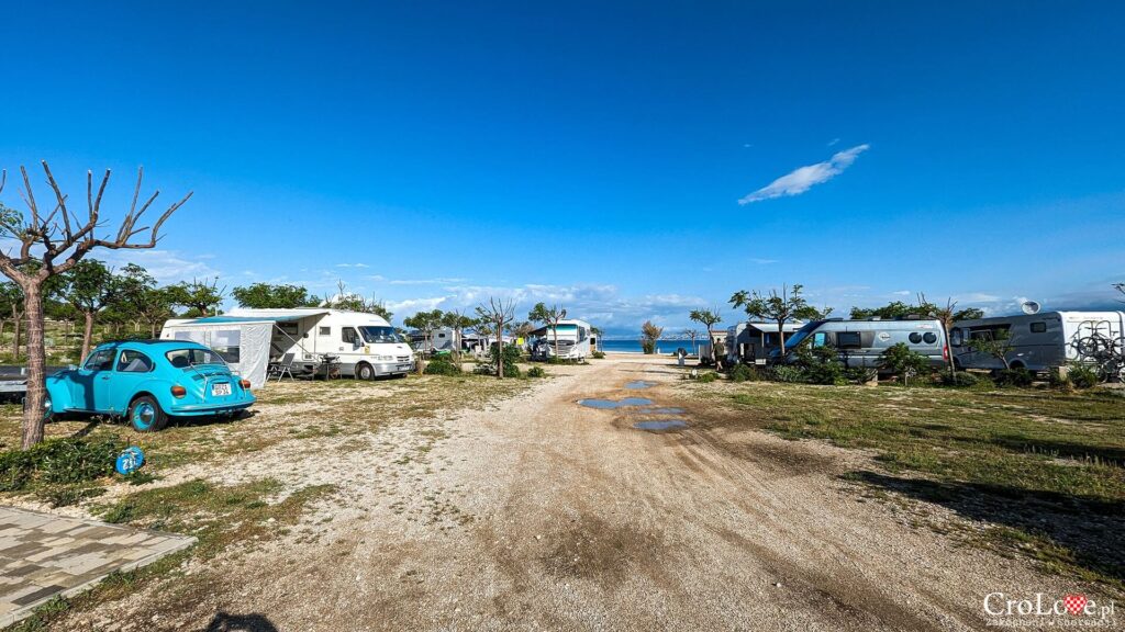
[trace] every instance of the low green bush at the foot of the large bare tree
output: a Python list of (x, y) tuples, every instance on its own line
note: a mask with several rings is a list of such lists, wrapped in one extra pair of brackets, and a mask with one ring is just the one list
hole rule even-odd
[(30, 450), (0, 453), (0, 491), (34, 486), (72, 485), (114, 473), (114, 461), (125, 449), (117, 437), (51, 439)]

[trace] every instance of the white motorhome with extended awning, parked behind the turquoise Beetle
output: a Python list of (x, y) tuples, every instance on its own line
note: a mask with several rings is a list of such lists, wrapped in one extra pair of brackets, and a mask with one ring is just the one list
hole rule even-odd
[(343, 309), (237, 308), (223, 316), (168, 320), (160, 337), (214, 349), (255, 387), (266, 381), (270, 363), (290, 359), (294, 373), (312, 373), (332, 355), (341, 376), (364, 380), (414, 370), (414, 352), (390, 323)]

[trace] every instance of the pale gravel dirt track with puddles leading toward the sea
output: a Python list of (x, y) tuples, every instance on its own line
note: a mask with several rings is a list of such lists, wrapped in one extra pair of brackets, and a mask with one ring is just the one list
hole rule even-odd
[[(1062, 589), (857, 502), (835, 478), (855, 452), (726, 430), (703, 410), (695, 423), (662, 361), (551, 371), (489, 410), (404, 422), (367, 448), (277, 446), (224, 472), (341, 493), (315, 526), (192, 569), (206, 589), (174, 608), (150, 590), (84, 622), (192, 630), (222, 611), (250, 616), (232, 630), (961, 630), (983, 626), (987, 593)], [(623, 388), (638, 379), (657, 385)], [(642, 432), (636, 412), (576, 405), (627, 396), (687, 406), (692, 425)], [(434, 432), (449, 436), (387, 466)]]

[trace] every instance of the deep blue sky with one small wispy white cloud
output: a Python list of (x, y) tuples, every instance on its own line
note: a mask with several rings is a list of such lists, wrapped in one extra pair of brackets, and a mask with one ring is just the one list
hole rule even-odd
[(1125, 281), (1119, 2), (165, 4), (0, 15), (0, 165), (79, 201), (111, 168), (112, 217), (138, 164), (194, 190), (106, 256), (165, 281), (620, 334), (783, 282), (1005, 313)]

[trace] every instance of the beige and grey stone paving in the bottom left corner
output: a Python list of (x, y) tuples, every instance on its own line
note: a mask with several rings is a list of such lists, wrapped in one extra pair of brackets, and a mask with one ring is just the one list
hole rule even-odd
[(195, 538), (0, 506), (0, 628), (55, 596), (70, 597)]

